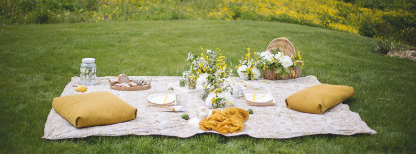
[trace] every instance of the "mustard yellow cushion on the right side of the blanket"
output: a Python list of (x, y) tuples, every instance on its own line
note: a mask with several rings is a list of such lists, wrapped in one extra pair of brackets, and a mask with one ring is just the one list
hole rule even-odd
[(354, 88), (349, 86), (319, 84), (287, 97), (286, 107), (301, 112), (322, 114), (353, 95)]

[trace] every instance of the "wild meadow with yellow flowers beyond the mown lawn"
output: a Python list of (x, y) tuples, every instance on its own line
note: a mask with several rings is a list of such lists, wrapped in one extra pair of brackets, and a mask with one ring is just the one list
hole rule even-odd
[(279, 21), (415, 46), (415, 10), (416, 0), (2, 0), (0, 23)]

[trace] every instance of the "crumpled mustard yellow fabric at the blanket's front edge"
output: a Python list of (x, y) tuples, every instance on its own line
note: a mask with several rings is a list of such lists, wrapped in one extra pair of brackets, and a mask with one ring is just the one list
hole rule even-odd
[(241, 108), (225, 108), (222, 111), (213, 110), (208, 118), (199, 122), (199, 129), (204, 131), (213, 130), (223, 134), (241, 132), (248, 116), (248, 111)]

